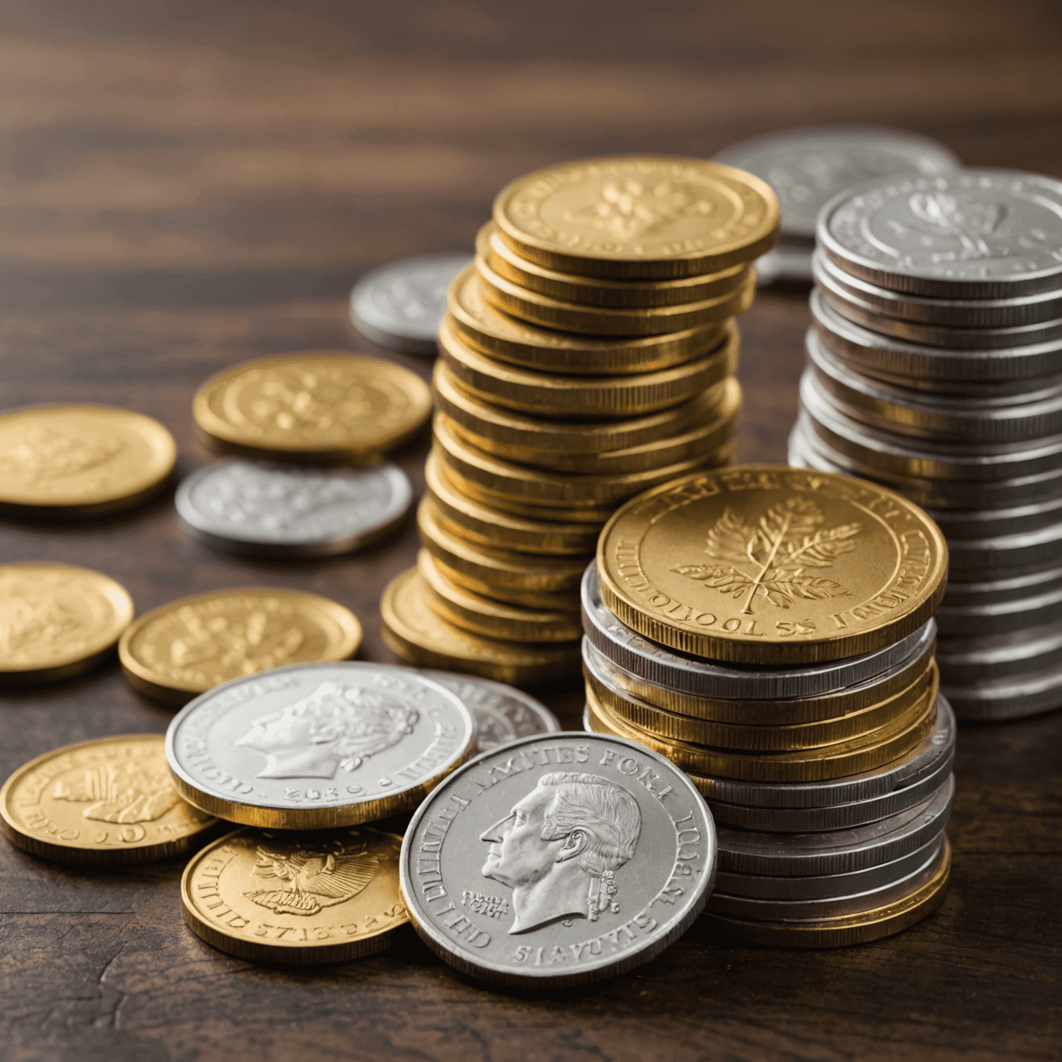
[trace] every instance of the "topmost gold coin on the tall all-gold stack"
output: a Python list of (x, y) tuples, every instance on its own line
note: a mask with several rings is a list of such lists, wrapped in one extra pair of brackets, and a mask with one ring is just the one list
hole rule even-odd
[(498, 192), (494, 221), (524, 258), (582, 276), (668, 279), (749, 262), (777, 239), (758, 177), (698, 158), (627, 155), (551, 166)]

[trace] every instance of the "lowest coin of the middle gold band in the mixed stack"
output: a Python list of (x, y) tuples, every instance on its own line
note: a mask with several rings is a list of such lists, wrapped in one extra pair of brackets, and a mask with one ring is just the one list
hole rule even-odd
[(744, 782), (824, 782), (872, 771), (910, 752), (931, 733), (939, 678), (933, 665), (929, 688), (914, 705), (868, 740), (866, 736), (794, 752), (729, 752), (690, 741), (664, 739), (622, 719), (586, 689), (587, 718), (598, 733), (629, 738), (693, 774)]

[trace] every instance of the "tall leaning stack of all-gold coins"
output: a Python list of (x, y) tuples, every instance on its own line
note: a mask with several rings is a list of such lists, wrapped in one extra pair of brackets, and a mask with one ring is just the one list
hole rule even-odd
[(578, 672), (579, 583), (616, 506), (730, 461), (734, 318), (777, 226), (765, 183), (697, 159), (572, 162), (499, 192), (439, 335), (425, 548), (382, 601), (401, 656)]

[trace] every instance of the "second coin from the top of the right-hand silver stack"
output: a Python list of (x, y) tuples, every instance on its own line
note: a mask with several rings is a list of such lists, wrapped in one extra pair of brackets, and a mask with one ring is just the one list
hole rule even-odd
[(890, 291), (846, 273), (821, 251), (811, 257), (816, 282), (830, 281), (846, 297), (900, 321), (946, 325), (950, 328), (1015, 328), (1062, 318), (1062, 288), (1014, 298), (935, 298)]

